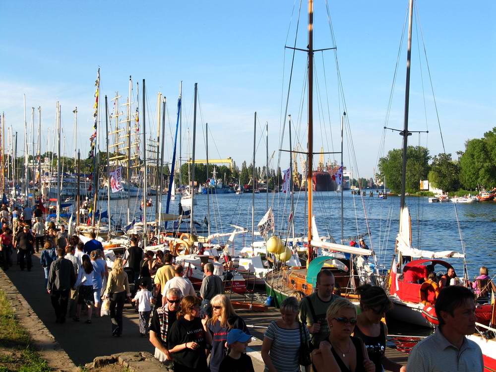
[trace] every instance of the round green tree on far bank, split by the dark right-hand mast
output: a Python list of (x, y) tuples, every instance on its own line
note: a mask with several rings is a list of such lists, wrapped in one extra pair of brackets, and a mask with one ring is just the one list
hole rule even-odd
[[(386, 187), (392, 192), (401, 191), (402, 150), (392, 149), (385, 157), (380, 158), (377, 179), (386, 178)], [(408, 146), (406, 163), (407, 192), (417, 192), (420, 180), (426, 180), (429, 173), (429, 150), (422, 146)]]

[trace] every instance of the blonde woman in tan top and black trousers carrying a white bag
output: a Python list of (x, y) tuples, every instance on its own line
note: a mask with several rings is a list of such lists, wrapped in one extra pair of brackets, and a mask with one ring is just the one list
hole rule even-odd
[(116, 258), (104, 292), (104, 298), (110, 299), (112, 336), (120, 337), (123, 333), (123, 309), (126, 296), (131, 297), (127, 274), (123, 269), (122, 258)]

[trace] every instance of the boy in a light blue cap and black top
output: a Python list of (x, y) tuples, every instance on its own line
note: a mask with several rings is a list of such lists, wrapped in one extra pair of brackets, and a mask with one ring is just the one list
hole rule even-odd
[(241, 329), (231, 329), (227, 334), (229, 354), (219, 367), (219, 372), (254, 372), (251, 358), (245, 354), (251, 336)]

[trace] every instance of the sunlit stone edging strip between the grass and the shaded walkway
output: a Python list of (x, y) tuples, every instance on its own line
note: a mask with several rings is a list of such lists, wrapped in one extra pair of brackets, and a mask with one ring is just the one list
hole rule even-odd
[(0, 269), (0, 289), (6, 294), (17, 320), (27, 330), (32, 346), (55, 371), (78, 371), (74, 362), (62, 349), (10, 278)]

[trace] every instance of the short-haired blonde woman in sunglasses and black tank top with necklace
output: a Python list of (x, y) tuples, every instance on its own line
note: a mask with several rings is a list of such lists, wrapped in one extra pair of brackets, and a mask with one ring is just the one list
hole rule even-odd
[(374, 372), (367, 349), (351, 334), (357, 322), (357, 308), (349, 300), (336, 298), (326, 312), (329, 325), (328, 341), (321, 341), (312, 352), (316, 371)]

